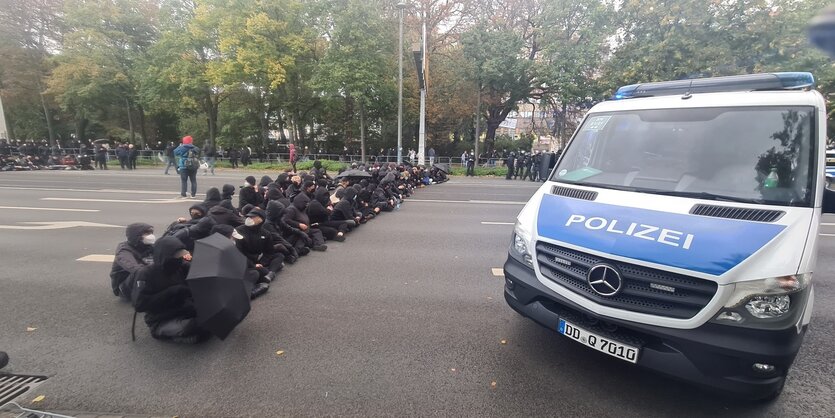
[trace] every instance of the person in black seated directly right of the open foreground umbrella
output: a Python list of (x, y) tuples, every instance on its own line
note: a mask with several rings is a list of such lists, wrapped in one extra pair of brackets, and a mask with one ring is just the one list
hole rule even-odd
[(248, 267), (260, 273), (252, 290), (253, 299), (267, 292), (276, 273), (284, 267), (284, 255), (276, 250), (272, 234), (263, 229), (266, 218), (267, 214), (260, 208), (252, 209), (246, 214), (246, 223), (235, 229), (238, 236), (233, 235), (238, 250), (246, 256)]

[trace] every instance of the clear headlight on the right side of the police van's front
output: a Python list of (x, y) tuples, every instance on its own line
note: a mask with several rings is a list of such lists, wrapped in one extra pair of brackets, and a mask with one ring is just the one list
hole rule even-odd
[(733, 294), (714, 321), (757, 328), (793, 321), (797, 316), (793, 314), (805, 303), (808, 292), (804, 290), (811, 279), (811, 273), (804, 273), (736, 283)]

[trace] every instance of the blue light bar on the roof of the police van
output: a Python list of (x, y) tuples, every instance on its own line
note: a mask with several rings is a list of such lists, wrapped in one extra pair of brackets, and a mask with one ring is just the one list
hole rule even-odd
[(619, 88), (614, 100), (727, 91), (805, 90), (815, 88), (811, 73), (765, 73), (630, 84)]

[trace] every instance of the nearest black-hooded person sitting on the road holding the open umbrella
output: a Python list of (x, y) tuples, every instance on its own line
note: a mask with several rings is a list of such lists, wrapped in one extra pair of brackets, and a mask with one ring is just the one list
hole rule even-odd
[(136, 272), (134, 307), (145, 313), (151, 336), (195, 344), (210, 334), (197, 325), (197, 311), (186, 284), (191, 253), (174, 237), (154, 244), (154, 263)]

